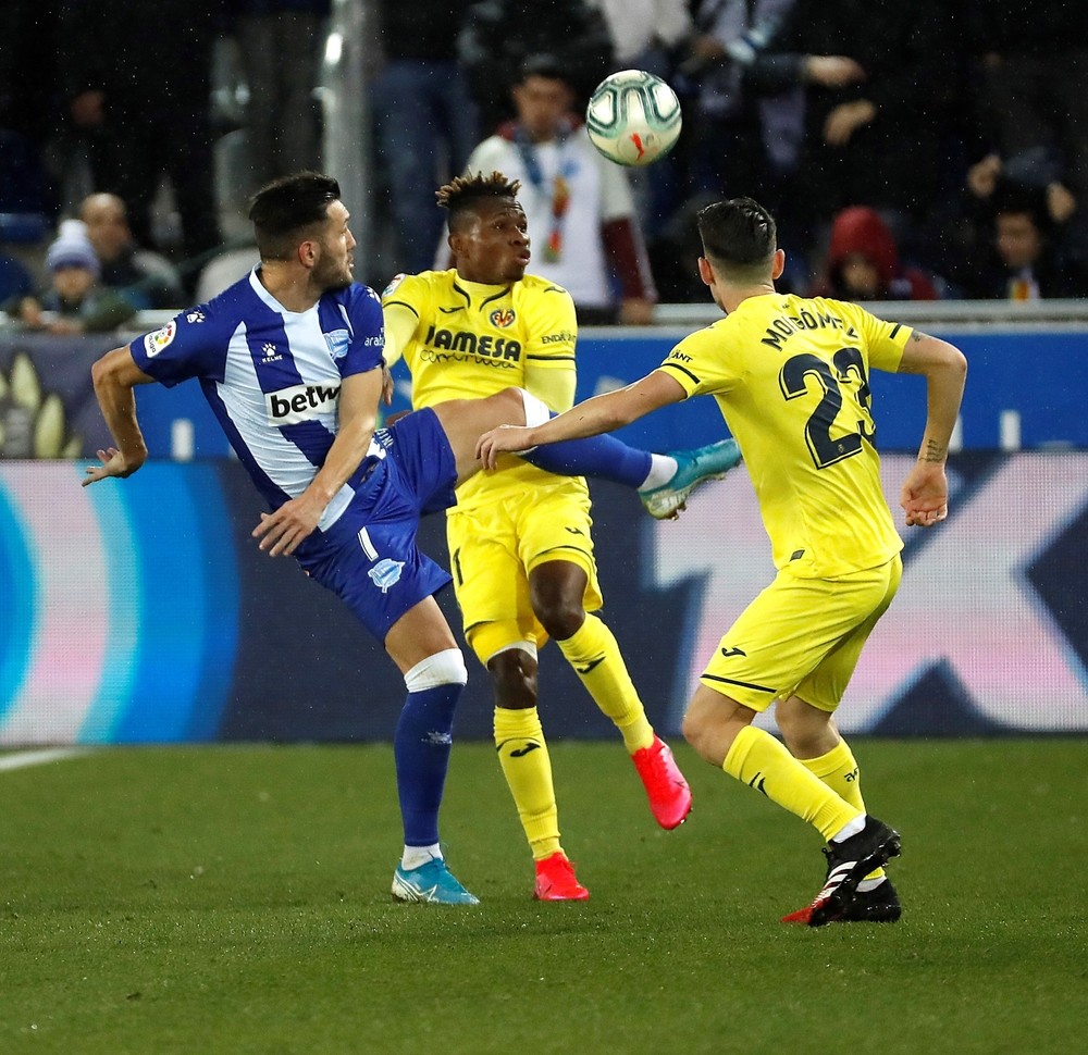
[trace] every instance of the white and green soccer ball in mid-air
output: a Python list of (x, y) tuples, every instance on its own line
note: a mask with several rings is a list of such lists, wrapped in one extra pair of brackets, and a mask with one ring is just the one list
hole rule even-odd
[(591, 142), (620, 165), (648, 165), (664, 158), (676, 145), (681, 123), (676, 92), (644, 70), (605, 77), (585, 108)]

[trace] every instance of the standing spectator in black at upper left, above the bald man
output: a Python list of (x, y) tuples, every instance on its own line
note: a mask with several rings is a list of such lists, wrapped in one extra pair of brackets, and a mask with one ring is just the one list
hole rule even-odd
[(168, 176), (188, 258), (220, 241), (209, 111), (212, 44), (225, 14), (222, 4), (201, 13), (188, 0), (146, 11), (122, 0), (58, 9), (62, 94), (86, 137), (95, 189), (116, 194), (136, 241), (153, 246), (151, 207)]

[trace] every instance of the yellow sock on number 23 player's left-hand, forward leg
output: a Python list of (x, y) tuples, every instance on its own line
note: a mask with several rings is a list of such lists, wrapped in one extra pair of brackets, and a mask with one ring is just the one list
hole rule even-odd
[(816, 828), (825, 840), (861, 812), (798, 761), (770, 733), (745, 725), (721, 767)]

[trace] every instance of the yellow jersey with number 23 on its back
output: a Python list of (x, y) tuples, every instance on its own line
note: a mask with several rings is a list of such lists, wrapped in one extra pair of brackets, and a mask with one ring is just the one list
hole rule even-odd
[(713, 395), (740, 444), (776, 567), (832, 578), (903, 542), (880, 487), (869, 371), (895, 372), (912, 331), (856, 305), (751, 297), (658, 368)]

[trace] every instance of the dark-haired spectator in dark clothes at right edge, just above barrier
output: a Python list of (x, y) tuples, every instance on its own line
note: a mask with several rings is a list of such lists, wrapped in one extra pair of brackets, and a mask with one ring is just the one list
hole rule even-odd
[(1088, 272), (1062, 237), (1038, 187), (1004, 183), (993, 195), (989, 238), (964, 268), (964, 288), (979, 299), (1088, 297)]

